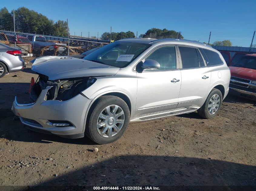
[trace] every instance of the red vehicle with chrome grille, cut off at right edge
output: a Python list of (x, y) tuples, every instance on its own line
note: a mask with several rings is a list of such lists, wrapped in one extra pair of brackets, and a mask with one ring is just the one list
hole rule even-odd
[(256, 54), (246, 54), (230, 67), (230, 93), (256, 100)]

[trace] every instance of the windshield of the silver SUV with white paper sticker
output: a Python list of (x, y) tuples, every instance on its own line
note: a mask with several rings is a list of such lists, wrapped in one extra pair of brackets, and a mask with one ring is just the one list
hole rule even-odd
[(114, 42), (95, 50), (83, 59), (124, 68), (144, 52), (150, 44)]

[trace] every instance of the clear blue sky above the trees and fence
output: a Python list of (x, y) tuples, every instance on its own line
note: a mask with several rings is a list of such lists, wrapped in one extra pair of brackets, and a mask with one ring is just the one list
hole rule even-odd
[[(48, 18), (66, 20), (71, 34), (97, 36), (105, 31), (131, 30), (138, 35), (150, 28), (181, 31), (185, 39), (208, 42), (231, 40), (250, 46), (256, 30), (256, 1), (3, 1), (9, 11), (25, 6)], [(254, 43), (256, 44), (256, 40)]]

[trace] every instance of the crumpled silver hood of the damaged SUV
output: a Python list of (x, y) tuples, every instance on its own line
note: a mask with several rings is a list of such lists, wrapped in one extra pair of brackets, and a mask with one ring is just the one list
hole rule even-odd
[(69, 56), (43, 56), (33, 61), (31, 69), (49, 80), (86, 76), (111, 76), (119, 68)]

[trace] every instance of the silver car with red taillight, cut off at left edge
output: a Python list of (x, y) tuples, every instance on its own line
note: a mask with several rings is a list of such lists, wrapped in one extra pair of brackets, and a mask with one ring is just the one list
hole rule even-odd
[(10, 72), (17, 72), (24, 68), (25, 62), (21, 58), (21, 49), (0, 43), (0, 78)]

